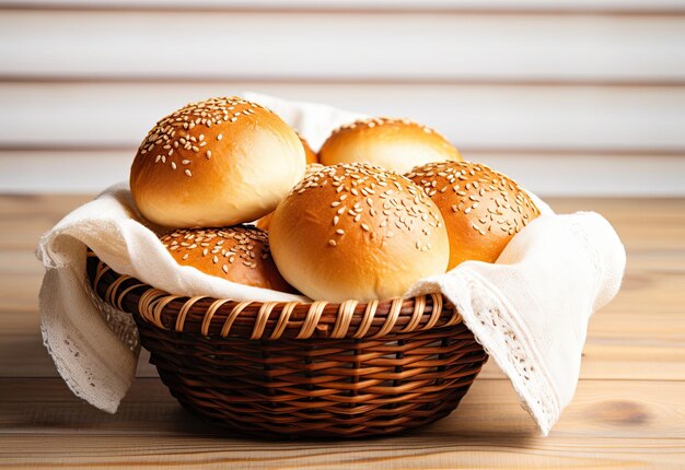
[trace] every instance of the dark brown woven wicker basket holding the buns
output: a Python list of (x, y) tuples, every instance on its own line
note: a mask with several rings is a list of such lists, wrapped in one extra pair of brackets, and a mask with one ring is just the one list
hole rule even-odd
[(89, 252), (96, 295), (133, 316), (172, 395), (239, 434), (362, 437), (452, 412), (487, 355), (441, 295), (341, 304), (183, 297)]

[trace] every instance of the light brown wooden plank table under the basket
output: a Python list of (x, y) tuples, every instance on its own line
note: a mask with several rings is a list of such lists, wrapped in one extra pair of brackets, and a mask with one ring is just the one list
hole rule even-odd
[(591, 320), (573, 402), (546, 437), (490, 361), (460, 408), (365, 440), (227, 438), (182, 410), (141, 359), (109, 415), (72, 396), (42, 344), (38, 236), (83, 196), (0, 196), (0, 467), (685, 468), (685, 200), (556, 199), (603, 213), (628, 249), (623, 290)]

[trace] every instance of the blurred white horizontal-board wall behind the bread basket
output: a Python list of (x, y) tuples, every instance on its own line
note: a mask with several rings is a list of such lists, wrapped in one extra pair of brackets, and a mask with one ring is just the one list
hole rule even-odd
[(0, 0), (0, 192), (96, 192), (243, 91), (413, 118), (542, 196), (685, 196), (675, 0)]

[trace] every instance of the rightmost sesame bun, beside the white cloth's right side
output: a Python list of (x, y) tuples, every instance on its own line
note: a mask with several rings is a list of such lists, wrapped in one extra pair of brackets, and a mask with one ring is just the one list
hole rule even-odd
[(539, 215), (509, 177), (471, 162), (429, 163), (406, 175), (438, 204), (450, 235), (450, 267), (495, 262), (509, 240)]

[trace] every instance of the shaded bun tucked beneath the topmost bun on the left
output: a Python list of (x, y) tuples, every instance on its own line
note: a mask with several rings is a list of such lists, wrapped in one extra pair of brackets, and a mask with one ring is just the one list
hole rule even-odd
[(239, 284), (297, 292), (276, 269), (266, 232), (255, 226), (178, 228), (161, 240), (178, 265)]

